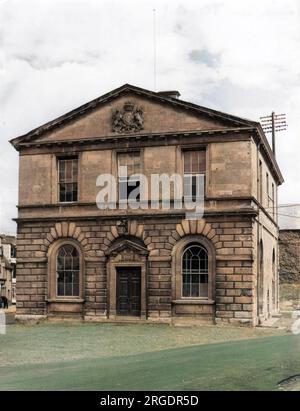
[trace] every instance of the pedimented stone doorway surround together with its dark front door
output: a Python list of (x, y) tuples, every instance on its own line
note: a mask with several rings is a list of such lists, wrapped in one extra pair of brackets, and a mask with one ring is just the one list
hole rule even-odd
[(120, 238), (107, 255), (108, 317), (147, 318), (147, 248), (141, 241)]

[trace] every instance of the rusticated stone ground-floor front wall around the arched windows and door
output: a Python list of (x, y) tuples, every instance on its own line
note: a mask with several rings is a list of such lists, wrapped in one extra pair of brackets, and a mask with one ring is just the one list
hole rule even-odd
[[(147, 318), (172, 322), (192, 319), (188, 308), (176, 312), (172, 301), (172, 250), (185, 236), (201, 235), (215, 250), (214, 302), (201, 307), (198, 317), (213, 322), (255, 321), (251, 217), (207, 217), (198, 221), (174, 217), (130, 220), (127, 235), (143, 241), (147, 265)], [(61, 239), (78, 241), (84, 254), (83, 317), (107, 318), (107, 250), (119, 237), (115, 220), (26, 222), (18, 228), (17, 315), (47, 316), (48, 250)], [(61, 314), (64, 314), (62, 312)], [(195, 316), (194, 316), (195, 317)], [(175, 318), (176, 319), (176, 318)]]

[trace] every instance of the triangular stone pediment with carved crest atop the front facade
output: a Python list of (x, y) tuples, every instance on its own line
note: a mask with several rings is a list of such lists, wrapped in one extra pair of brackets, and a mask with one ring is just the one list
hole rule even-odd
[(11, 142), (18, 148), (23, 144), (247, 128), (255, 124), (160, 93), (124, 85)]

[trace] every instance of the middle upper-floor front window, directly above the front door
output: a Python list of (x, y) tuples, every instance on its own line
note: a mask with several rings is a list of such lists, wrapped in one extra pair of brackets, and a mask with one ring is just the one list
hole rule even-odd
[(140, 200), (141, 155), (139, 151), (118, 154), (119, 200)]

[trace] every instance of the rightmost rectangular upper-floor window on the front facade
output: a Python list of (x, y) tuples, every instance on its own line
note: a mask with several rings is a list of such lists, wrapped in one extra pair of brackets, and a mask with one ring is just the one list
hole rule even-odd
[[(206, 151), (184, 151), (184, 196), (195, 198), (201, 194), (201, 183), (205, 183)], [(202, 179), (201, 179), (202, 177)], [(204, 188), (204, 187), (203, 187)]]

